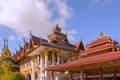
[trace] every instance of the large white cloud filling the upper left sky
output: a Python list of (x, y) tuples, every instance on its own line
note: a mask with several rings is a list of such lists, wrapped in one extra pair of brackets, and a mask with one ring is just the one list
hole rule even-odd
[[(0, 0), (0, 24), (12, 29), (18, 37), (33, 34), (45, 37), (58, 17), (60, 26), (71, 17), (71, 8), (64, 0)], [(14, 37), (11, 37), (14, 39)]]

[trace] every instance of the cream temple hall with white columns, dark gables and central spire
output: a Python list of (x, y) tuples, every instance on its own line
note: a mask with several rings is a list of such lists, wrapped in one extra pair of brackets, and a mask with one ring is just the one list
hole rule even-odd
[(69, 80), (64, 72), (53, 73), (45, 69), (78, 60), (79, 53), (84, 51), (82, 40), (71, 44), (58, 24), (47, 37), (48, 40), (30, 33), (29, 42), (24, 40), (24, 46), (16, 51), (15, 63), (19, 64), (20, 72), (27, 80)]

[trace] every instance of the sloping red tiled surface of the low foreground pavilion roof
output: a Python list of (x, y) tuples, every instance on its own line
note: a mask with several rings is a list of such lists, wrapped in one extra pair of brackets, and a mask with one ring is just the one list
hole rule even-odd
[(45, 70), (49, 71), (58, 71), (58, 70), (63, 70), (63, 69), (68, 69), (68, 68), (76, 68), (80, 67), (83, 65), (88, 65), (88, 64), (95, 64), (95, 63), (100, 63), (100, 62), (106, 62), (106, 61), (111, 61), (111, 60), (116, 60), (120, 59), (120, 51), (116, 52), (109, 52), (101, 55), (96, 55), (96, 56), (90, 56), (86, 58), (81, 58), (75, 61), (63, 63), (60, 65), (56, 65), (53, 67), (48, 67)]

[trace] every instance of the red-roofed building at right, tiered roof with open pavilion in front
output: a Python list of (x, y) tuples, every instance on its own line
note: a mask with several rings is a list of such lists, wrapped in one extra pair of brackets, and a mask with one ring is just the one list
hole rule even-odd
[[(120, 80), (120, 45), (101, 33), (79, 53), (79, 59), (45, 71), (67, 72), (69, 80)], [(53, 74), (52, 80), (55, 80)], [(66, 79), (67, 80), (67, 79)]]

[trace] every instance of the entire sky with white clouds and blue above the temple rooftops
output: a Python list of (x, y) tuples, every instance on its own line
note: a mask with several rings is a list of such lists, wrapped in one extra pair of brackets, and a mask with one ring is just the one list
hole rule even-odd
[(81, 38), (84, 44), (89, 43), (100, 32), (120, 41), (120, 0), (30, 1), (1, 0), (0, 49), (3, 38), (7, 37), (14, 52), (18, 44), (23, 46), (23, 38), (28, 41), (29, 30), (36, 36), (46, 38), (56, 24), (56, 15), (63, 31), (68, 32), (71, 43)]

